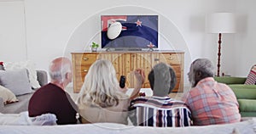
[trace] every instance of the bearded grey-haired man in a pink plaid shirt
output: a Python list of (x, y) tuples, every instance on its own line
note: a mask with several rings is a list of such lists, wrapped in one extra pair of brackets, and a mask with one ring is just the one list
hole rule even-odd
[(192, 88), (182, 100), (189, 105), (195, 126), (234, 123), (241, 120), (235, 93), (213, 79), (214, 68), (208, 59), (195, 59), (188, 73)]

